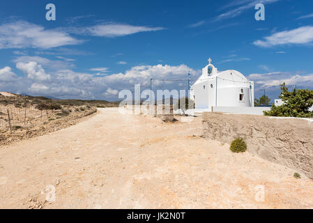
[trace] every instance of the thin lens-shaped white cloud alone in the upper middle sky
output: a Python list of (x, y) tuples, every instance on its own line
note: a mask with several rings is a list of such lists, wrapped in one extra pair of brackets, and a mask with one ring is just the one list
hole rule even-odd
[(148, 26), (132, 26), (129, 24), (98, 24), (96, 26), (85, 27), (77, 29), (73, 32), (85, 33), (91, 36), (105, 36), (105, 37), (116, 37), (116, 36), (127, 36), (134, 33), (147, 32), (147, 31), (160, 31), (165, 29), (163, 27), (148, 27)]

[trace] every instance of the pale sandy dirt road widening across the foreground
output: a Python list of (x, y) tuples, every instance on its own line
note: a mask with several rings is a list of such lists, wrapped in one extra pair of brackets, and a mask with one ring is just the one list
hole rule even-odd
[(1, 147), (0, 208), (313, 208), (313, 180), (201, 138), (201, 117), (179, 119), (100, 109)]

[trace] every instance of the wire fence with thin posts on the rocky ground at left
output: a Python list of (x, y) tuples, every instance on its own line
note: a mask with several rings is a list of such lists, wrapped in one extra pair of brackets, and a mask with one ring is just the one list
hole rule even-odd
[(44, 120), (52, 115), (52, 110), (40, 110), (35, 107), (0, 107), (0, 130), (24, 128), (36, 121)]

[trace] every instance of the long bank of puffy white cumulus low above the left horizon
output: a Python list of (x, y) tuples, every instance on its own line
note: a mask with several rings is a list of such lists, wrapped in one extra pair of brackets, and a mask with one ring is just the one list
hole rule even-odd
[[(200, 74), (200, 70), (193, 70), (185, 65), (180, 66), (135, 66), (124, 73), (114, 75), (94, 75), (92, 73), (75, 72), (73, 70), (58, 70), (45, 72), (41, 64), (36, 61), (17, 62), (17, 69), (24, 72), (23, 77), (13, 78), (13, 82), (0, 86), (3, 91), (13, 93), (28, 93), (30, 95), (53, 96), (55, 98), (79, 98), (119, 100), (117, 95), (123, 89), (133, 90), (134, 84), (142, 84), (142, 91), (147, 89), (150, 79), (153, 78), (153, 89), (187, 89), (188, 71), (192, 77)], [(4, 70), (3, 70), (4, 69)], [(0, 73), (15, 74), (10, 68), (3, 68)], [(91, 68), (93, 71), (104, 71), (107, 68)], [(0, 75), (1, 77), (4, 77)], [(194, 77), (196, 78), (196, 77)], [(181, 82), (162, 81), (181, 79)]]

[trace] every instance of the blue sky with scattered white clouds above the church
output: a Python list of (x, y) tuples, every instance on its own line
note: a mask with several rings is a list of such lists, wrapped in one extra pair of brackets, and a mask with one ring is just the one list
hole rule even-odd
[[(56, 20), (47, 21), (47, 3)], [(264, 3), (265, 21), (254, 6)], [(186, 89), (208, 57), (266, 89), (313, 88), (313, 1), (1, 1), (0, 91), (117, 100), (155, 79)]]

